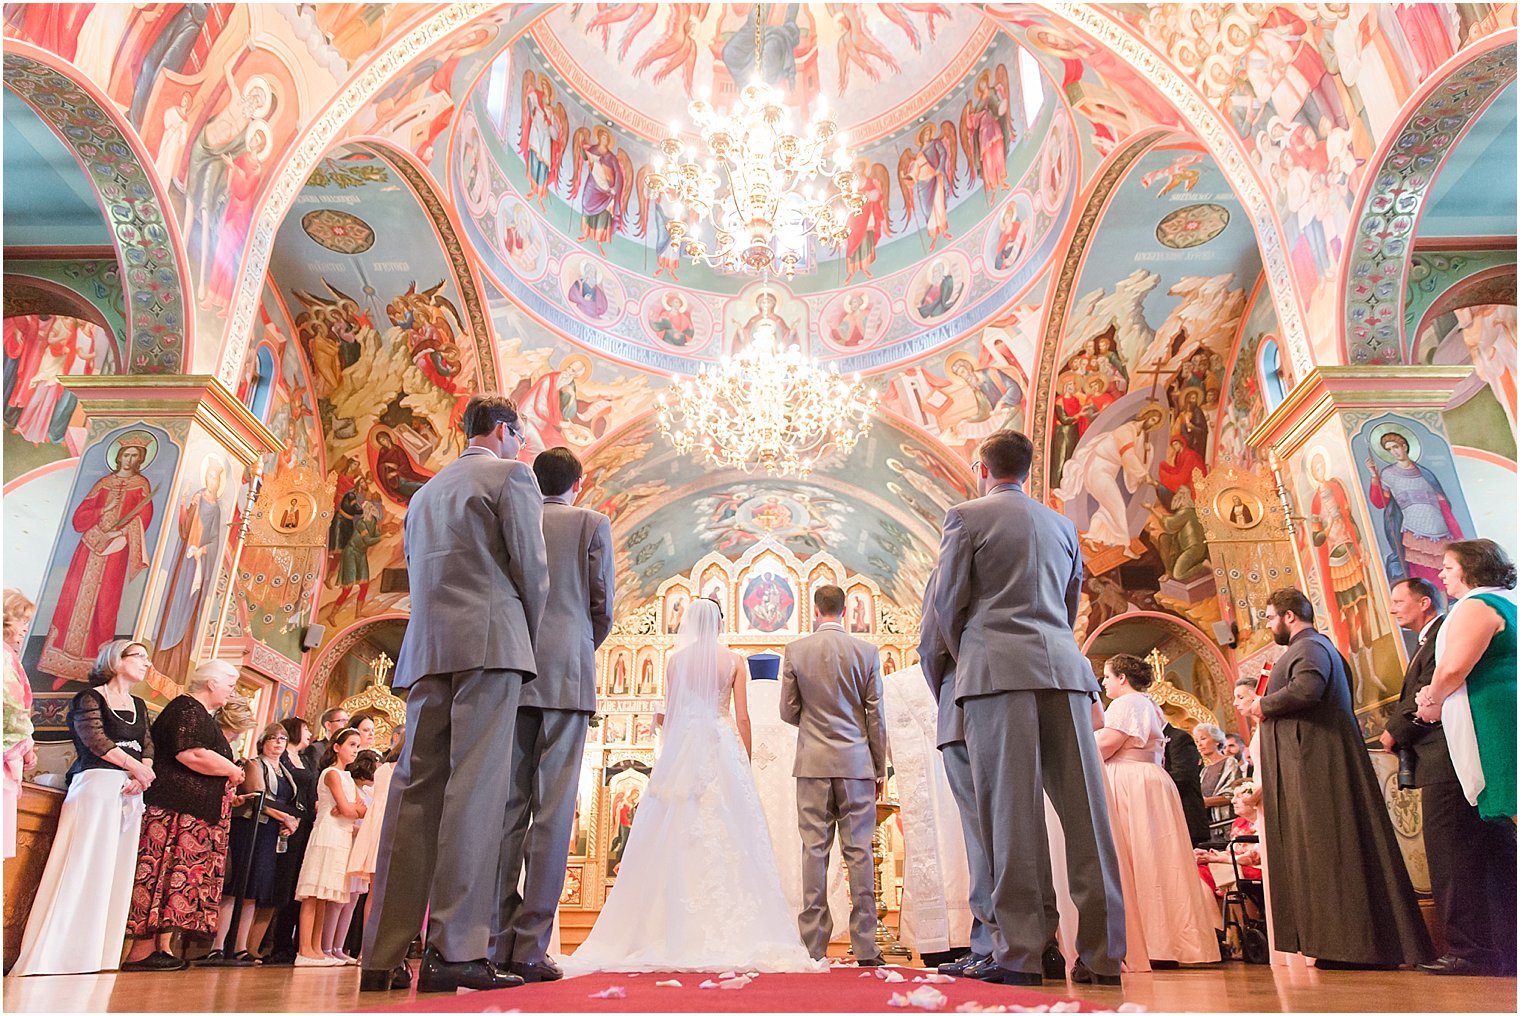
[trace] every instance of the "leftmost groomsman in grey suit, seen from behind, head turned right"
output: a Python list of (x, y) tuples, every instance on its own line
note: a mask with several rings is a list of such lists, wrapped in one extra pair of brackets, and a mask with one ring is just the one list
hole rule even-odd
[(410, 981), (406, 949), (429, 911), (420, 992), (512, 987), (486, 958), (497, 917), (512, 732), (549, 598), (543, 497), (517, 406), (476, 395), (468, 447), (412, 497), (406, 572), (412, 618), (395, 666), (406, 748), (391, 779), (359, 987)]

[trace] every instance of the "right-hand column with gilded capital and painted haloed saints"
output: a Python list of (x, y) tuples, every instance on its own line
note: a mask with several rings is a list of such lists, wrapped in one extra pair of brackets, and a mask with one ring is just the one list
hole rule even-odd
[(1442, 421), (1470, 373), (1321, 367), (1251, 435), (1274, 464), (1315, 624), (1351, 663), (1368, 738), (1383, 729), (1408, 662), (1389, 589), (1403, 578), (1439, 589), (1441, 545), (1479, 535)]

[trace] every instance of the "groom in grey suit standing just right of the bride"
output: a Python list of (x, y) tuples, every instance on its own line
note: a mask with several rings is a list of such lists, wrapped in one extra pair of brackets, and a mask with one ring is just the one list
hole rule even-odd
[(860, 966), (882, 966), (876, 945), (871, 835), (876, 800), (886, 783), (886, 721), (882, 715), (882, 654), (845, 634), (845, 590), (813, 592), (813, 634), (786, 646), (781, 719), (798, 727), (796, 824), (803, 833), (803, 945), (822, 960), (833, 937), (828, 914), (828, 850), (850, 868), (850, 945)]

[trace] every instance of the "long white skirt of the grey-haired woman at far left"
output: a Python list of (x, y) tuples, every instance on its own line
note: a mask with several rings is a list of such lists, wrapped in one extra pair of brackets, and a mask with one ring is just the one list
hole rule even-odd
[(47, 868), (12, 975), (116, 970), (132, 903), (143, 795), (126, 771), (85, 770), (68, 785)]

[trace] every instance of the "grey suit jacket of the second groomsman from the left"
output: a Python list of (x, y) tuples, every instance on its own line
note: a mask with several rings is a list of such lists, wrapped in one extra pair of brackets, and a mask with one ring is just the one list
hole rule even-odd
[(596, 712), (596, 648), (613, 630), (613, 523), (599, 511), (544, 499), (549, 602), (535, 643), (538, 680), (520, 706)]

